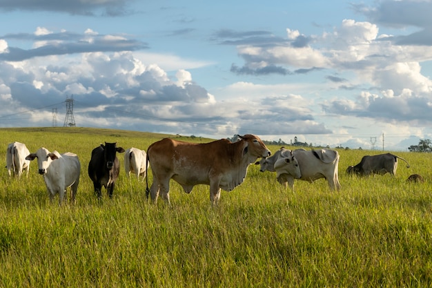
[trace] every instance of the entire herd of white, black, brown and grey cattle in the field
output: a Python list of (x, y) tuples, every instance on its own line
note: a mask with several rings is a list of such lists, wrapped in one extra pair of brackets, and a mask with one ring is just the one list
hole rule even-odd
[[(277, 181), (294, 189), (294, 180), (313, 182), (324, 178), (328, 187), (340, 190), (337, 171), (339, 153), (331, 149), (306, 151), (297, 149), (290, 151), (280, 148), (274, 155), (264, 142), (256, 135), (238, 135), (237, 142), (222, 139), (205, 144), (181, 142), (164, 138), (148, 147), (147, 153), (138, 148), (124, 148), (116, 143), (105, 143), (92, 150), (88, 163), (88, 176), (93, 182), (95, 195), (101, 198), (101, 187), (104, 186), (111, 198), (115, 182), (119, 177), (119, 160), (117, 153), (124, 154), (126, 176), (134, 173), (137, 179), (145, 177), (146, 195), (153, 203), (159, 195), (166, 203), (170, 203), (169, 186), (173, 179), (190, 193), (198, 184), (210, 186), (210, 202), (217, 204), (221, 189), (231, 191), (242, 184), (246, 178), (248, 166), (260, 166), (260, 171), (276, 172)], [(59, 203), (63, 202), (66, 189), (70, 188), (71, 200), (75, 202), (81, 163), (74, 153), (60, 154), (50, 152), (46, 148), (39, 148), (30, 153), (26, 144), (13, 142), (6, 149), (6, 168), (10, 177), (21, 177), (23, 171), (28, 171), (30, 162), (37, 158), (38, 173), (43, 175), (48, 195), (52, 202), (59, 194)], [(258, 162), (258, 158), (261, 158)], [(386, 153), (374, 156), (364, 156), (359, 164), (348, 166), (346, 173), (355, 175), (371, 175), (391, 173), (395, 175), (397, 158), (409, 163), (402, 157)], [(153, 183), (148, 188), (147, 169), (153, 173)], [(409, 181), (423, 182), (418, 174), (409, 177)]]

